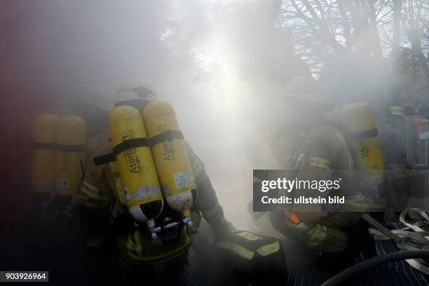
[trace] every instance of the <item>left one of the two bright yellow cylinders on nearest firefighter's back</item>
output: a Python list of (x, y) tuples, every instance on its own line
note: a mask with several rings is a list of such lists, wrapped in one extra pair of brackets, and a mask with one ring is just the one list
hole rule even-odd
[(109, 133), (128, 210), (135, 219), (154, 226), (163, 210), (163, 196), (139, 111), (130, 106), (113, 109)]

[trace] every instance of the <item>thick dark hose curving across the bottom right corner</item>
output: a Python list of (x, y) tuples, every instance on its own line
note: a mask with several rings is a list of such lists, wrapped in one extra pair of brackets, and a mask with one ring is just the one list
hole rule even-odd
[(353, 265), (340, 273), (332, 276), (326, 280), (321, 286), (334, 286), (341, 285), (341, 283), (347, 280), (353, 275), (359, 273), (368, 268), (372, 268), (379, 264), (385, 264), (391, 261), (404, 260), (404, 259), (418, 259), (418, 258), (429, 258), (429, 250), (407, 250), (401, 252), (394, 252), (386, 254), (382, 257), (375, 257), (360, 262), (359, 264)]

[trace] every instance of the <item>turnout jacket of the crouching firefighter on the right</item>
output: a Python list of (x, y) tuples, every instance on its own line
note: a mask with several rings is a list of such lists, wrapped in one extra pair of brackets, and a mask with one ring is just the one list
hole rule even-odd
[[(340, 189), (329, 194), (345, 196), (346, 203), (341, 207), (347, 212), (334, 211), (325, 205), (314, 205), (313, 210), (309, 210), (308, 205), (305, 210), (294, 206), (292, 210), (282, 210), (283, 224), (275, 221), (275, 212), (272, 212), (271, 222), (285, 236), (299, 240), (314, 250), (344, 250), (347, 235), (342, 229), (352, 226), (360, 218), (360, 214), (353, 210), (365, 209), (367, 205), (365, 196), (360, 192), (358, 178), (353, 172), (353, 156), (343, 133), (333, 122), (322, 123), (308, 130), (301, 142), (301, 147), (290, 161), (290, 168), (297, 170), (297, 179), (323, 181), (341, 178)], [(324, 195), (317, 190), (316, 192)]]

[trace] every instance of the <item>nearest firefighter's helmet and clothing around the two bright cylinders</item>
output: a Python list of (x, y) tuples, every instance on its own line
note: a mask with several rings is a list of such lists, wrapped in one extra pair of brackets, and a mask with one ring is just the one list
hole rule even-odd
[[(147, 86), (124, 88), (118, 91), (118, 100), (115, 105), (116, 107), (131, 106), (142, 111), (155, 99), (156, 93), (153, 88)], [(229, 226), (225, 222), (222, 207), (218, 203), (203, 163), (194, 154), (189, 144), (185, 143), (185, 146), (198, 189), (193, 193), (191, 208), (193, 224), (198, 225), (202, 214), (202, 217), (212, 226), (214, 240), (217, 240), (230, 232)], [(121, 282), (124, 280), (160, 282), (154, 264), (163, 264), (166, 271), (165, 279), (169, 282), (179, 282), (193, 236), (186, 231), (172, 231), (170, 237), (161, 237), (162, 245), (152, 243), (153, 237), (144, 223), (139, 225), (120, 198), (123, 186), (118, 164), (109, 159), (112, 151), (112, 142), (109, 140), (95, 152), (90, 159), (81, 187), (81, 228), (86, 245), (92, 247), (95, 250), (94, 253), (97, 253), (97, 249), (105, 247), (110, 233), (113, 234), (118, 252), (118, 268), (115, 269), (115, 276)], [(168, 207), (164, 205), (163, 211), (167, 209)], [(163, 213), (160, 216), (162, 217)]]

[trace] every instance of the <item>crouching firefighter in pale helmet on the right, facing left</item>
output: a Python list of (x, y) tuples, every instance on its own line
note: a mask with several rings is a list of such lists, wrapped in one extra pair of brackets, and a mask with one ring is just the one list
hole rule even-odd
[(326, 115), (333, 104), (323, 100), (318, 81), (311, 77), (292, 79), (285, 92), (281, 99), (283, 107), (298, 111), (290, 116), (291, 124), (286, 128), (295, 129), (294, 133), (301, 137), (289, 167), (297, 170), (298, 180), (341, 178), (338, 193), (331, 191), (331, 194), (344, 196), (346, 203), (339, 207), (312, 205), (311, 211), (283, 207), (270, 212), (271, 224), (287, 238), (311, 250), (316, 266), (322, 268), (346, 266), (360, 252), (372, 256), (374, 240), (360, 218), (367, 203), (354, 176), (353, 158), (341, 128)]

